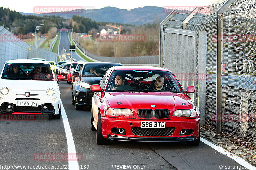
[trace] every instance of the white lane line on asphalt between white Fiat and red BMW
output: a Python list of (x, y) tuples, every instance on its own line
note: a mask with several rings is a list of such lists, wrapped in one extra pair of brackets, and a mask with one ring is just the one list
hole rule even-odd
[[(68, 117), (66, 115), (62, 101), (60, 102), (61, 102), (61, 116), (62, 116), (66, 138), (67, 138), (68, 153), (76, 154), (75, 143), (74, 143), (72, 132), (69, 126)], [(69, 160), (68, 165), (70, 170), (79, 170), (77, 160)]]

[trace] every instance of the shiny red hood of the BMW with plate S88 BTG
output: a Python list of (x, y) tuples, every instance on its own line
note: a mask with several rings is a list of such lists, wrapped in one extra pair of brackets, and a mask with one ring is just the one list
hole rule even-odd
[[(112, 108), (138, 109), (191, 109), (193, 103), (186, 94), (171, 92), (106, 92), (105, 97)], [(122, 104), (117, 104), (120, 102)], [(151, 107), (155, 105), (156, 107)]]

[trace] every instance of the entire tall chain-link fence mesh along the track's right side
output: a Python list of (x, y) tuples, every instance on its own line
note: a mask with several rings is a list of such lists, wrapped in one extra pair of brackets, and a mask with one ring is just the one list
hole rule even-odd
[[(224, 11), (218, 12), (220, 9), (224, 9)], [(222, 132), (232, 133), (255, 143), (256, 2), (254, 0), (228, 0), (200, 7), (200, 10), (184, 23), (187, 18), (189, 18), (187, 13), (176, 13), (164, 24), (163, 29), (176, 28), (195, 31), (197, 38), (199, 32), (207, 32), (206, 120), (209, 121), (213, 129), (216, 128), (216, 122), (220, 121)], [(219, 27), (217, 23), (220, 20), (223, 25)], [(218, 31), (222, 34), (218, 35)], [(218, 42), (221, 42), (221, 106), (216, 104), (217, 78), (215, 75), (219, 57)], [(165, 44), (167, 43), (172, 42), (165, 40)], [(196, 70), (198, 70), (198, 47), (196, 50)], [(210, 78), (212, 75), (215, 78)], [(198, 98), (197, 92), (198, 81), (196, 81), (195, 98)], [(194, 101), (197, 105), (198, 102), (195, 99)], [(221, 108), (221, 117), (216, 117), (218, 107)]]

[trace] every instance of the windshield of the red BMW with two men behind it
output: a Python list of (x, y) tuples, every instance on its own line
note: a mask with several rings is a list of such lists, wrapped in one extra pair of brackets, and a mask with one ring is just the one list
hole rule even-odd
[(184, 93), (178, 80), (171, 72), (158, 70), (113, 71), (108, 80), (106, 92), (113, 91), (164, 91)]

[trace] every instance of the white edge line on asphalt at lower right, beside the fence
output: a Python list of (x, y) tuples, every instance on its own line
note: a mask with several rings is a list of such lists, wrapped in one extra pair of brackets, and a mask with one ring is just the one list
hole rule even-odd
[(218, 152), (228, 156), (229, 158), (235, 160), (238, 164), (244, 166), (245, 168), (247, 168), (247, 169), (256, 169), (255, 166), (253, 166), (250, 163), (246, 162), (244, 159), (240, 158), (239, 156), (235, 155), (234, 153), (228, 152), (224, 148), (222, 148), (220, 146), (216, 146), (215, 144), (205, 140), (204, 138), (200, 138), (200, 141), (204, 142), (205, 144), (207, 144), (208, 146), (212, 147), (216, 151), (218, 151)]

